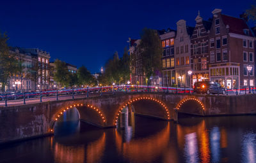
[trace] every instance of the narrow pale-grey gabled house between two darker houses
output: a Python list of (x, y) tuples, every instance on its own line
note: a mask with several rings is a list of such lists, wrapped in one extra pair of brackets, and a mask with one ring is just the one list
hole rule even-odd
[(185, 20), (177, 23), (177, 34), (174, 39), (174, 58), (175, 58), (175, 83), (178, 87), (190, 87), (191, 70), (191, 35), (194, 27), (186, 25)]

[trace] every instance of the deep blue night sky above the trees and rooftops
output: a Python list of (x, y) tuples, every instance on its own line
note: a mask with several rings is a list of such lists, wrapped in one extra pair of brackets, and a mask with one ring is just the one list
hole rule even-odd
[(253, 0), (214, 1), (12, 1), (0, 2), (0, 30), (10, 45), (40, 48), (77, 67), (95, 73), (127, 40), (139, 38), (143, 27), (176, 29), (180, 19), (195, 25), (195, 17), (207, 20), (214, 8), (239, 17)]

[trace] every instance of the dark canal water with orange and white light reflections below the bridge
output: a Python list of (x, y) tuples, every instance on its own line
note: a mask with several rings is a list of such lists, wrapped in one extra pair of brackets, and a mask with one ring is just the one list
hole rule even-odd
[(256, 116), (134, 119), (120, 131), (60, 122), (56, 136), (2, 146), (0, 162), (256, 162)]

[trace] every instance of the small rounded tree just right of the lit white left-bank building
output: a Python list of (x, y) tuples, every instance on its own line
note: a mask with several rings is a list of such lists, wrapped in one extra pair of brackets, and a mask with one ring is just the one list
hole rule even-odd
[(68, 67), (65, 62), (56, 59), (54, 61), (55, 71), (54, 80), (57, 81), (58, 85), (68, 86), (70, 85), (71, 78), (69, 77)]

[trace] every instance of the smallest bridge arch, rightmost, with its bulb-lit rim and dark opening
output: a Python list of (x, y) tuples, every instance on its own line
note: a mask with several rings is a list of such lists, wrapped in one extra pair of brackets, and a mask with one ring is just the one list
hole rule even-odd
[(186, 97), (182, 99), (175, 108), (180, 113), (188, 113), (191, 115), (204, 115), (205, 110), (204, 103), (196, 97)]

